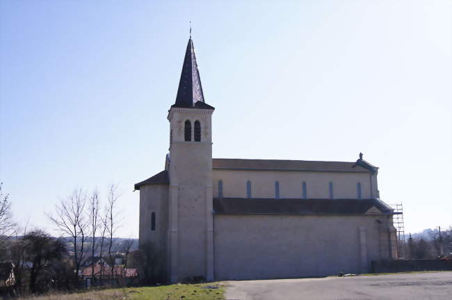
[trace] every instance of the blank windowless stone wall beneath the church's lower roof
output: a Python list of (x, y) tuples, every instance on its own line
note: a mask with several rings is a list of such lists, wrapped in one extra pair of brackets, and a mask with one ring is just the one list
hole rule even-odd
[[(245, 280), (366, 273), (381, 251), (387, 216), (214, 217), (215, 278)], [(361, 229), (360, 229), (361, 228)], [(364, 262), (364, 265), (362, 265)]]

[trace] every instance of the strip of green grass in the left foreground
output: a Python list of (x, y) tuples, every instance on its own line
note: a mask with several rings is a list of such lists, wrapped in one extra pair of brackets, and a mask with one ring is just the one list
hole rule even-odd
[[(223, 300), (222, 283), (126, 287), (74, 294), (51, 294), (33, 300)], [(25, 299), (24, 299), (25, 300)]]

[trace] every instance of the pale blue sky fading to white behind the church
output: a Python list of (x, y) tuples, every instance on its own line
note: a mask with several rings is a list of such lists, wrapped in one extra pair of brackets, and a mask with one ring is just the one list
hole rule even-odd
[[(452, 224), (451, 1), (0, 1), (0, 179), (18, 221), (164, 167), (193, 21), (213, 156), (380, 167), (406, 232)], [(105, 193), (103, 194), (105, 196)]]

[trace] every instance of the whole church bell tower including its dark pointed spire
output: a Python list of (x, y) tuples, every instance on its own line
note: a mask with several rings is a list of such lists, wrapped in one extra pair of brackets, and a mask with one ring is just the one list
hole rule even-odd
[(212, 136), (214, 108), (204, 102), (193, 40), (188, 40), (168, 155), (170, 281), (213, 280)]

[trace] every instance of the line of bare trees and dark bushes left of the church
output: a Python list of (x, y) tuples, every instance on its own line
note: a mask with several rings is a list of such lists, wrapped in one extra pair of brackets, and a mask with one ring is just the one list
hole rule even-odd
[[(14, 284), (9, 289), (13, 289), (14, 294), (83, 287), (80, 279), (87, 264), (91, 268), (91, 278), (99, 278), (100, 283), (102, 278), (120, 277), (117, 267), (127, 271), (127, 255), (133, 244), (131, 239), (126, 239), (121, 245), (125, 260), (121, 266), (115, 263), (118, 250), (115, 235), (122, 224), (117, 184), (109, 187), (104, 201), (97, 190), (88, 194), (83, 189), (74, 189), (72, 194), (61, 198), (54, 210), (46, 213), (60, 232), (59, 238), (52, 237), (45, 230), (29, 230), (27, 225), (15, 223), (10, 197), (3, 194), (2, 187), (0, 184), (0, 278), (3, 285), (8, 285), (5, 284), (8, 276), (13, 276)], [(96, 270), (94, 262), (106, 267)]]

